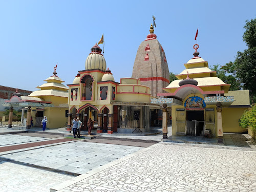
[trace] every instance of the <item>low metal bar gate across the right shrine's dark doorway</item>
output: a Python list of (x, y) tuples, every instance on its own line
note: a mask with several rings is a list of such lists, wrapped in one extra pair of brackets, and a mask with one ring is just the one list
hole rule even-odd
[(187, 121), (186, 135), (204, 136), (204, 121)]

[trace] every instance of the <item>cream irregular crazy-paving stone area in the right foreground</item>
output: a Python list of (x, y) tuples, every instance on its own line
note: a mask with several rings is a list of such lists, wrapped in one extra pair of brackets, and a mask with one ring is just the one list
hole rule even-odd
[(255, 191), (256, 152), (158, 143), (51, 191)]

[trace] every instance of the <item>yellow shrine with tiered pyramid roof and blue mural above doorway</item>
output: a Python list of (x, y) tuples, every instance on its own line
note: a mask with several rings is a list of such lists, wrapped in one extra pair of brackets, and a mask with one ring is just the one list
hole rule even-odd
[(208, 62), (199, 57), (198, 48), (194, 45), (194, 57), (176, 75), (178, 80), (163, 89), (168, 93), (158, 94), (165, 98), (153, 98), (152, 103), (169, 106), (173, 135), (222, 137), (223, 132), (244, 132), (239, 118), (250, 107), (249, 91), (229, 91), (230, 84), (208, 68)]

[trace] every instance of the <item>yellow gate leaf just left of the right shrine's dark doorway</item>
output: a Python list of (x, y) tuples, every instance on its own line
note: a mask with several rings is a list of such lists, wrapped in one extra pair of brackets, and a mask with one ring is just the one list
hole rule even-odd
[(185, 109), (176, 109), (176, 134), (186, 134), (186, 116)]

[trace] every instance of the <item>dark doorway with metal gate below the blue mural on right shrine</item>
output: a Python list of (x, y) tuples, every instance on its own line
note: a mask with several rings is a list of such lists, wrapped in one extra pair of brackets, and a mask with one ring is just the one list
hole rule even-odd
[(204, 136), (204, 110), (187, 110), (186, 135)]

